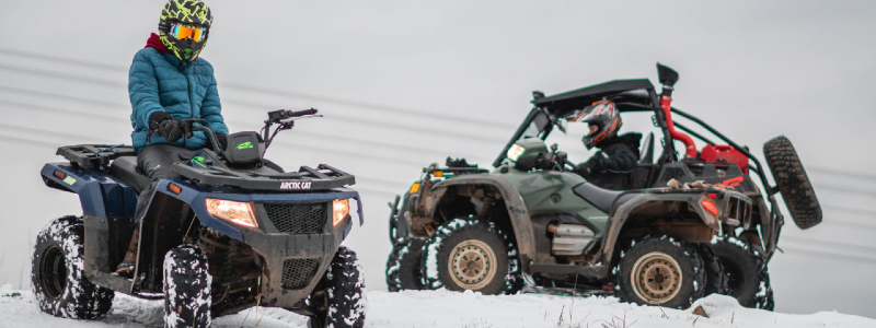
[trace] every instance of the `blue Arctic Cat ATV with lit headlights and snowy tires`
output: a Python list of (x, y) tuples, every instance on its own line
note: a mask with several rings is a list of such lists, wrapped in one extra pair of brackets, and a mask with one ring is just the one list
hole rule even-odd
[[(83, 213), (37, 235), (31, 279), (39, 309), (95, 319), (119, 292), (164, 300), (165, 327), (209, 327), (211, 318), (252, 306), (310, 316), (310, 327), (362, 327), (361, 267), (341, 245), (364, 220), (359, 194), (348, 187), (355, 177), (325, 164), (285, 172), (263, 159), (277, 132), (320, 116), (270, 112), (263, 134), (230, 134), (223, 149), (208, 122), (182, 120), (187, 138), (204, 131), (218, 151), (174, 163), (183, 178), (158, 183), (139, 225), (135, 207), (150, 179), (131, 147), (59, 148), (68, 162), (46, 164), (43, 180), (78, 194)], [(114, 271), (135, 231), (136, 271), (120, 277)]]

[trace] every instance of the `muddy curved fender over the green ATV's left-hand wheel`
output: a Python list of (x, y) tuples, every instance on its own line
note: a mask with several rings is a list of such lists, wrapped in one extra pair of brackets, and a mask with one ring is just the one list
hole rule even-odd
[(523, 203), (523, 197), (517, 192), (517, 189), (515, 189), (508, 180), (488, 174), (476, 174), (458, 176), (437, 183), (431, 187), (433, 192), (427, 202), (426, 212), (433, 215), (436, 206), (441, 200), (440, 198), (445, 195), (443, 191), (449, 187), (461, 185), (489, 185), (502, 192), (505, 207), (508, 209), (508, 216), (511, 218), (511, 226), (514, 226), (514, 234), (517, 239), (518, 251), (520, 251), (520, 262), (523, 266), (523, 272), (530, 272), (529, 262), (535, 259), (535, 237), (532, 230), (532, 222), (530, 221), (529, 211), (527, 211), (527, 207)]

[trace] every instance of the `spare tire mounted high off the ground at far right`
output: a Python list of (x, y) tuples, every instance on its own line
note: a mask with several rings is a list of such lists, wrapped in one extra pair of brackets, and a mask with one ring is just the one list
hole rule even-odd
[(784, 136), (773, 138), (763, 144), (763, 154), (794, 223), (799, 229), (821, 223), (821, 206), (791, 140)]

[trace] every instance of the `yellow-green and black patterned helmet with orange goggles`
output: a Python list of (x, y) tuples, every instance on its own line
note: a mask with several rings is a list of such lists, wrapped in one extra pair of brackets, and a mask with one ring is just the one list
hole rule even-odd
[(170, 0), (158, 24), (161, 43), (180, 60), (192, 62), (207, 45), (210, 9), (200, 0)]

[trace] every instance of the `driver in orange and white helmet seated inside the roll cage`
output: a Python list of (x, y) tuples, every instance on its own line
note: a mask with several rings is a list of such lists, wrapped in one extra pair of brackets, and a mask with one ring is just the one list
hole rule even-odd
[(587, 178), (610, 171), (629, 172), (636, 167), (642, 134), (618, 136), (623, 122), (614, 103), (604, 99), (596, 102), (584, 108), (573, 121), (588, 124), (590, 131), (583, 138), (584, 145), (588, 150), (593, 147), (601, 150), (587, 162), (579, 164), (575, 173)]

